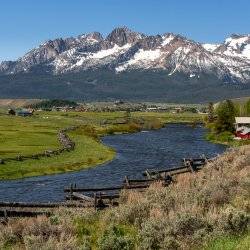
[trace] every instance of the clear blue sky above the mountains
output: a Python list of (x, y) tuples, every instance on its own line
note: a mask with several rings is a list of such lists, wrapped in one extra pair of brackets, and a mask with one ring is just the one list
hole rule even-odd
[(221, 42), (250, 33), (250, 0), (0, 0), (0, 61), (48, 39), (127, 26)]

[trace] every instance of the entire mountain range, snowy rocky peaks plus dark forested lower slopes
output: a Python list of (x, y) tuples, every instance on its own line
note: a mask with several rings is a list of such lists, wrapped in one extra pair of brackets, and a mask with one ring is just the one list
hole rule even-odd
[(221, 44), (126, 27), (49, 40), (0, 64), (2, 98), (206, 102), (250, 95), (250, 34)]

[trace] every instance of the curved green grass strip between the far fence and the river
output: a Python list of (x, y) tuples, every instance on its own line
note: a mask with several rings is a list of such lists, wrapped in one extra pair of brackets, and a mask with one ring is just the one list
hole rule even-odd
[(0, 179), (16, 179), (76, 171), (111, 160), (115, 152), (77, 130), (69, 133), (76, 148), (52, 157), (41, 157), (23, 162), (12, 161), (1, 166)]

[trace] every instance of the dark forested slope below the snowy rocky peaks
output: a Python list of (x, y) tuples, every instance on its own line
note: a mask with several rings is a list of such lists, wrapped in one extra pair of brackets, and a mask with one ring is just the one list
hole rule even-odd
[(0, 76), (0, 98), (72, 99), (83, 101), (153, 101), (206, 103), (249, 96), (248, 84), (225, 84), (209, 75), (199, 79), (183, 74), (171, 79), (166, 72), (111, 70), (63, 75), (18, 74)]

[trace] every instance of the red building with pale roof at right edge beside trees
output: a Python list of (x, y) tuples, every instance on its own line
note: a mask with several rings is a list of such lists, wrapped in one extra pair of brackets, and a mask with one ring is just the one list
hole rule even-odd
[(235, 135), (240, 139), (250, 139), (250, 117), (235, 117)]

